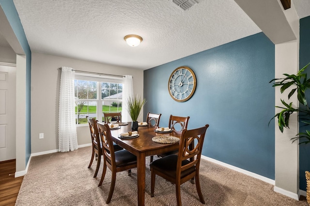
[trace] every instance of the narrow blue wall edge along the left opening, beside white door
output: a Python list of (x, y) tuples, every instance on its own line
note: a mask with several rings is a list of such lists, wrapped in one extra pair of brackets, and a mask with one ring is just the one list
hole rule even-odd
[[(0, 0), (0, 6), (2, 7), (4, 14), (6, 15), (21, 47), (26, 54), (26, 165), (31, 155), (31, 50), (20, 22), (19, 16), (16, 11), (13, 0)], [(17, 135), (17, 133), (16, 133)], [(19, 135), (19, 134), (18, 134)], [(18, 143), (16, 143), (18, 144)]]

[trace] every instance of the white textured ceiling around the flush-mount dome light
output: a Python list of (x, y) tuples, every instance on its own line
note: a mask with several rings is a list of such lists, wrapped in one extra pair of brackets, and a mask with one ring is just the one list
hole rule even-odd
[[(149, 69), (261, 32), (234, 0), (14, 0), (32, 52)], [(293, 0), (300, 18), (310, 0)], [(137, 47), (127, 34), (143, 38)], [(0, 38), (0, 45), (5, 44)]]

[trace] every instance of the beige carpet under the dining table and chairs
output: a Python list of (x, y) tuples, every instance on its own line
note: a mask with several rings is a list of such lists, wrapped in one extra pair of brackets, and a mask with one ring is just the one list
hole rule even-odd
[[(111, 173), (108, 170), (101, 187), (93, 178), (95, 162), (88, 169), (91, 147), (76, 151), (53, 153), (31, 158), (29, 170), (21, 185), (16, 206), (104, 206), (109, 193)], [(146, 206), (175, 206), (175, 186), (156, 177), (155, 197), (150, 197), (150, 171), (147, 157), (145, 183)], [(235, 172), (215, 163), (201, 162), (202, 193), (208, 206), (308, 206), (273, 191), (273, 185)], [(181, 186), (183, 206), (202, 203), (196, 186), (186, 182)], [(137, 173), (117, 173), (111, 206), (137, 206)]]

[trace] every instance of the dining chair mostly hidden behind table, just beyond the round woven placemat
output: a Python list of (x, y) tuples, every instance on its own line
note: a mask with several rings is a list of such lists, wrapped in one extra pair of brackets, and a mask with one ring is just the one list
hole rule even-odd
[[(169, 118), (169, 128), (173, 131), (182, 132), (183, 130), (187, 129), (189, 117), (178, 117), (170, 115)], [(165, 152), (163, 154), (158, 154), (158, 157), (166, 157), (171, 154), (178, 153), (178, 150), (173, 150), (170, 152)]]

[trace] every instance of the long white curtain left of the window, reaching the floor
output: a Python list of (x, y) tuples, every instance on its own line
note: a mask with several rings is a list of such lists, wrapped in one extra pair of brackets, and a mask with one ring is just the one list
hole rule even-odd
[(70, 67), (62, 67), (59, 95), (58, 148), (61, 152), (78, 149), (75, 117), (74, 74)]

